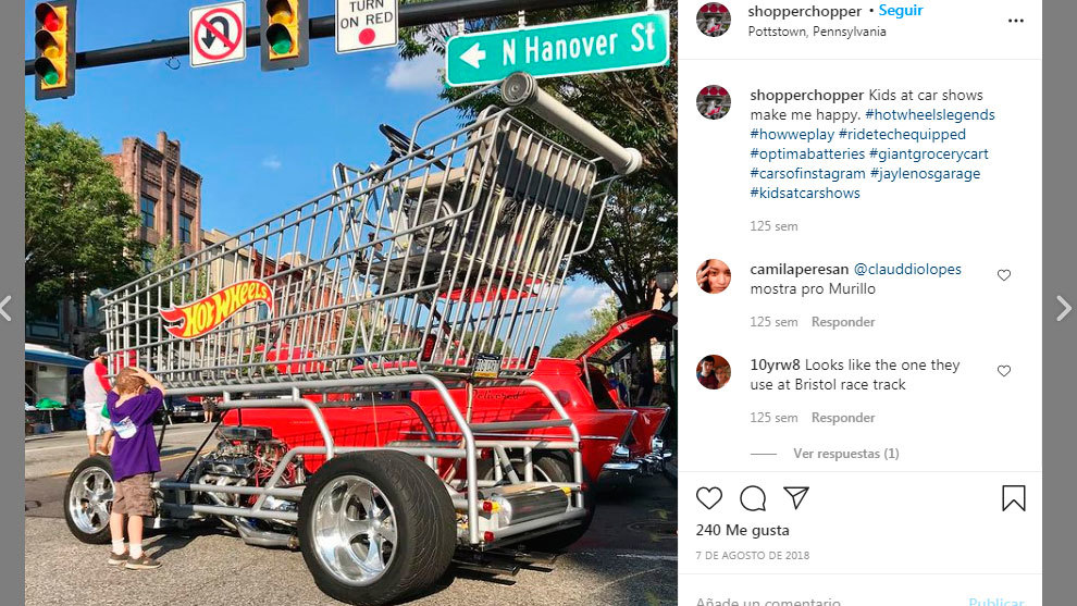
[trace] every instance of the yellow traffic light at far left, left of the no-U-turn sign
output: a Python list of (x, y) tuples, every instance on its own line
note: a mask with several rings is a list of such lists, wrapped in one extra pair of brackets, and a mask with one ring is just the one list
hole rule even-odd
[(34, 98), (75, 94), (75, 0), (38, 2), (34, 45)]

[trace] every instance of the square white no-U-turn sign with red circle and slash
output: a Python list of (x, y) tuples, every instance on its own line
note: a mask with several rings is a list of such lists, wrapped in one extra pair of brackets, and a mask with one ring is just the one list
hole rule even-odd
[(190, 10), (190, 66), (247, 58), (247, 7), (225, 2)]

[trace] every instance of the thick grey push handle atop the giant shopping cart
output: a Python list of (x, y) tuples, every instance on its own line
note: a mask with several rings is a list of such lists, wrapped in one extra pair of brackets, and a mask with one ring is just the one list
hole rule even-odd
[(538, 87), (534, 76), (515, 72), (502, 81), (502, 100), (511, 108), (524, 107), (560, 128), (581, 145), (602, 156), (619, 174), (632, 174), (643, 165), (643, 154), (622, 147), (578, 113)]

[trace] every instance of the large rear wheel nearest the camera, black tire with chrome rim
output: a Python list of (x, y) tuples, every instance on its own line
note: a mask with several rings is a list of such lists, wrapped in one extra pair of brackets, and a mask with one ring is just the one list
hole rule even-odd
[(411, 455), (341, 455), (304, 490), (299, 546), (330, 597), (386, 604), (429, 588), (448, 569), (456, 551), (453, 499)]

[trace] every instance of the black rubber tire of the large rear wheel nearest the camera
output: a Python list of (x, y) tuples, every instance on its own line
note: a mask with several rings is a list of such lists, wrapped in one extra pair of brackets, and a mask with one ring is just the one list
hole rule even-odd
[[(397, 541), (385, 570), (369, 584), (348, 583), (319, 557), (314, 511), (319, 496), (343, 477), (373, 483), (392, 506)], [(332, 494), (332, 493), (330, 493)], [(395, 450), (339, 455), (322, 465), (299, 500), (299, 548), (318, 589), (356, 606), (379, 606), (431, 586), (456, 551), (456, 510), (445, 484), (419, 459)]]

